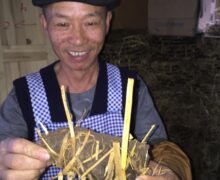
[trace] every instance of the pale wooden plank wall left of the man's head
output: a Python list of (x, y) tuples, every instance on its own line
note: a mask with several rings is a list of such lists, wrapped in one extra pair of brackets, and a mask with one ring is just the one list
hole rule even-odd
[(54, 59), (30, 0), (0, 0), (0, 103), (12, 81)]

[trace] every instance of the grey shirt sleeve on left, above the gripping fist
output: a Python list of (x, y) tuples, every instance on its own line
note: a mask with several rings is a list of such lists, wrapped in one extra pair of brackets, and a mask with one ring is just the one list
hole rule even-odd
[(0, 107), (0, 141), (8, 137), (28, 137), (27, 124), (13, 88)]

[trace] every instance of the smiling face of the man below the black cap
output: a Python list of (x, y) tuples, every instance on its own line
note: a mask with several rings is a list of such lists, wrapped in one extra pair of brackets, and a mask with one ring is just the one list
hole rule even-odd
[(41, 22), (63, 67), (86, 70), (97, 63), (111, 13), (104, 7), (79, 2), (49, 5)]

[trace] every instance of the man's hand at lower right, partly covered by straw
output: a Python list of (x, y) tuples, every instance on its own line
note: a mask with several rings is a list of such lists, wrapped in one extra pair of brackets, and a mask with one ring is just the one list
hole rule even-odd
[(138, 176), (136, 180), (180, 180), (171, 169), (156, 162), (150, 161), (149, 168), (151, 175)]

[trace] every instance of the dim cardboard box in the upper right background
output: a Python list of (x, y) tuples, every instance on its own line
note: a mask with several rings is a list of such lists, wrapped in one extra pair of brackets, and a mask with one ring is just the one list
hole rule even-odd
[(194, 36), (199, 0), (148, 0), (148, 32), (153, 35)]

